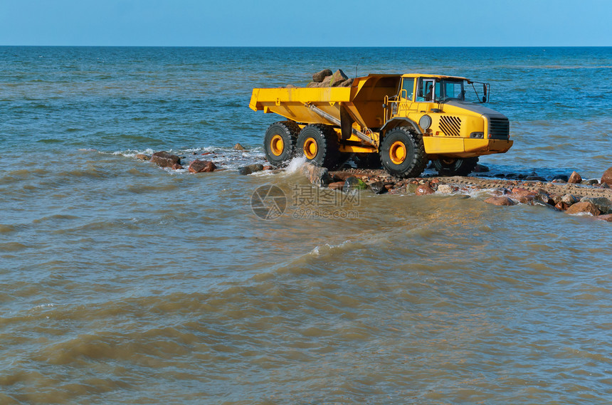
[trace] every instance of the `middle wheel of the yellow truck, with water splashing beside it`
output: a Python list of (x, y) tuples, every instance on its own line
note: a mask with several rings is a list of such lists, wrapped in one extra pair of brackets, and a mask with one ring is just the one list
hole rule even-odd
[(339, 160), (339, 142), (336, 131), (328, 125), (306, 125), (297, 136), (297, 155), (317, 166), (336, 169)]

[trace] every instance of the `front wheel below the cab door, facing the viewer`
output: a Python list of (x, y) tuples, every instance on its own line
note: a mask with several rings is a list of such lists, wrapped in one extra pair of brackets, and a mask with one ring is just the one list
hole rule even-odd
[(380, 158), (386, 171), (396, 177), (417, 177), (428, 162), (422, 135), (408, 127), (395, 127), (385, 134)]

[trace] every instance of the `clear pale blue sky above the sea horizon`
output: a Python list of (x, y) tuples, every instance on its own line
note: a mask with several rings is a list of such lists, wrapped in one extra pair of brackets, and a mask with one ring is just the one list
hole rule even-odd
[(611, 0), (0, 0), (0, 45), (612, 46)]

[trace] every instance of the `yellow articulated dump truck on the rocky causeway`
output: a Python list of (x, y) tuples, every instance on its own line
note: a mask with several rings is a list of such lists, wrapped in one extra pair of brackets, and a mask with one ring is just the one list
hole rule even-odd
[(507, 117), (482, 103), (490, 85), (445, 75), (368, 75), (351, 87), (255, 88), (252, 110), (287, 120), (265, 132), (265, 156), (282, 166), (293, 157), (328, 169), (354, 157), (418, 177), (433, 161), (440, 175), (466, 175), (482, 154), (512, 147)]

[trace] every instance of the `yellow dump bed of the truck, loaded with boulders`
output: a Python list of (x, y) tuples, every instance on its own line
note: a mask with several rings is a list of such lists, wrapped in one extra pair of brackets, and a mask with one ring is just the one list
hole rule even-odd
[(342, 105), (354, 120), (366, 127), (384, 123), (385, 96), (396, 95), (401, 75), (368, 75), (353, 80), (349, 88), (255, 88), (250, 98), (252, 110), (274, 112), (295, 122), (333, 125), (307, 105), (314, 105), (337, 120)]

